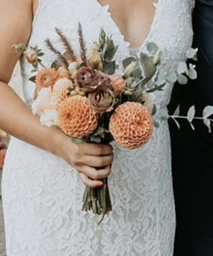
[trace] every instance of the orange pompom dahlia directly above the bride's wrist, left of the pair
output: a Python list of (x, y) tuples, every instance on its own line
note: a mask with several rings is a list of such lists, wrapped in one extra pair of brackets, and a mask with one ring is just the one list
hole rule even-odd
[(86, 97), (75, 95), (64, 100), (58, 112), (59, 126), (68, 136), (82, 138), (97, 127), (97, 113)]

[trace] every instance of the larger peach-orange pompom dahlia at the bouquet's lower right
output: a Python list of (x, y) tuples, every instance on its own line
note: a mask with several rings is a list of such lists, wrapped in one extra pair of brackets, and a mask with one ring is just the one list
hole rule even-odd
[(109, 131), (117, 144), (128, 149), (141, 147), (152, 135), (152, 118), (142, 104), (127, 101), (112, 114)]

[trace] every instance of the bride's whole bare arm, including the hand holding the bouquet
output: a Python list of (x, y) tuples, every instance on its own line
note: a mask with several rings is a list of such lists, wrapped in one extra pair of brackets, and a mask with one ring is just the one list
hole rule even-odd
[[(26, 44), (33, 19), (32, 0), (0, 0), (0, 128), (21, 140), (59, 155), (81, 174), (88, 186), (110, 172), (113, 159), (108, 145), (71, 142), (57, 127), (41, 125), (28, 106), (7, 85), (19, 55), (11, 45)], [(95, 167), (103, 167), (97, 171)], [(88, 178), (90, 177), (90, 178)]]

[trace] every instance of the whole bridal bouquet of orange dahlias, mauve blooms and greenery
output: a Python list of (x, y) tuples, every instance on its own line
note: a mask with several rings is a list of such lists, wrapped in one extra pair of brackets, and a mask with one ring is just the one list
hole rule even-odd
[[(146, 52), (138, 56), (124, 58), (121, 68), (114, 60), (118, 46), (103, 29), (87, 49), (79, 24), (78, 55), (62, 31), (56, 29), (56, 33), (64, 51), (46, 40), (57, 57), (49, 67), (43, 65), (44, 53), (37, 46), (13, 47), (36, 72), (30, 78), (36, 87), (33, 113), (40, 115), (42, 124), (59, 126), (75, 143), (109, 144), (115, 140), (127, 149), (141, 147), (152, 135), (152, 115), (157, 110), (150, 93), (161, 90), (171, 79), (185, 82), (186, 73), (194, 74), (194, 67), (183, 69), (183, 63), (175, 71), (161, 72), (161, 50), (155, 43), (147, 44)], [(83, 210), (105, 215), (112, 209), (107, 178), (103, 183), (101, 188), (86, 187)]]

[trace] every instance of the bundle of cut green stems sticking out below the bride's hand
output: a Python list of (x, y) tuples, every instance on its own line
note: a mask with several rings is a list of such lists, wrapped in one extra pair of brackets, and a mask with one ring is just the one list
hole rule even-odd
[(92, 210), (93, 213), (102, 215), (98, 225), (103, 220), (106, 213), (112, 210), (112, 204), (108, 189), (108, 178), (102, 179), (103, 186), (90, 188), (86, 186), (83, 195), (83, 211)]

